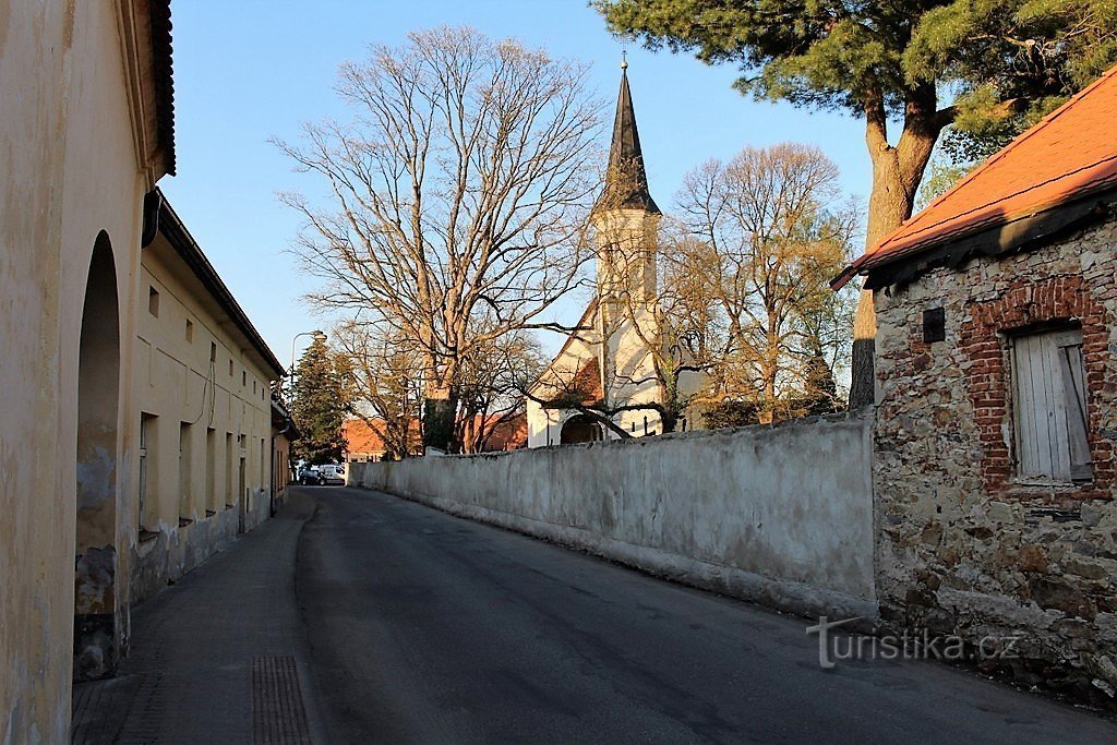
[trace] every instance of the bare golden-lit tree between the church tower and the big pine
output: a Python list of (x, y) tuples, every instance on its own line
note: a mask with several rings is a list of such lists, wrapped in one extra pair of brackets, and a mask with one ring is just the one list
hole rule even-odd
[[(726, 164), (690, 172), (678, 197), (680, 219), (706, 247), (694, 271), (723, 315), (724, 345), (715, 389), (758, 401), (772, 421), (781, 400), (831, 371), (844, 348), (836, 324), (850, 299), (828, 285), (844, 266), (856, 230), (839, 206), (838, 169), (815, 147), (746, 149)], [(810, 362), (810, 364), (805, 364)]]

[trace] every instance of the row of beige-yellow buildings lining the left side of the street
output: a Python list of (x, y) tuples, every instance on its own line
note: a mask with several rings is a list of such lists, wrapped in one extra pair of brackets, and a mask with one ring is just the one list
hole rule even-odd
[(0, 741), (64, 742), (132, 603), (267, 516), (292, 430), (155, 189), (169, 1), (0, 0)]

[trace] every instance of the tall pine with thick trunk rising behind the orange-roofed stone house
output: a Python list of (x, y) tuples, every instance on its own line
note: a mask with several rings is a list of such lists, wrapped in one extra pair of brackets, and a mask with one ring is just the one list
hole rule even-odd
[[(648, 47), (739, 65), (742, 93), (862, 118), (868, 246), (910, 217), (944, 128), (956, 133), (953, 153), (977, 160), (1117, 63), (1114, 0), (592, 2), (613, 31)], [(850, 405), (872, 401), (875, 336), (862, 293)]]

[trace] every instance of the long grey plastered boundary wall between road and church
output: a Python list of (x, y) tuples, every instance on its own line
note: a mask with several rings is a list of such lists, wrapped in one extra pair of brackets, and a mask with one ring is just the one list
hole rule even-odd
[(350, 484), (801, 613), (876, 615), (870, 422), (353, 464)]

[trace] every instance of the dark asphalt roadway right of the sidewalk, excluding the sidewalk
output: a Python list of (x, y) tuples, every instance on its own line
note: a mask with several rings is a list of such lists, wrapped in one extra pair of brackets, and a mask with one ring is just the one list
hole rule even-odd
[(803, 619), (386, 495), (300, 491), (296, 595), (333, 742), (1117, 742), (941, 663), (822, 670)]

